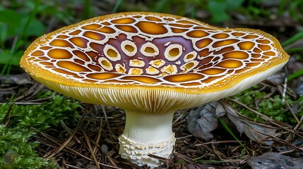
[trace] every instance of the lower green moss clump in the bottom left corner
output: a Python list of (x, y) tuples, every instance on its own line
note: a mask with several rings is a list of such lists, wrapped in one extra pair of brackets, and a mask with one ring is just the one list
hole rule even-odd
[(34, 132), (0, 125), (0, 168), (54, 168), (54, 164), (35, 152), (37, 142), (29, 142)]

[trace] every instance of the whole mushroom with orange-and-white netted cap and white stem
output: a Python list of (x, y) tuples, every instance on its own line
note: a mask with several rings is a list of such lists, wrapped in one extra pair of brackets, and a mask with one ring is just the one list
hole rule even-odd
[(33, 42), (21, 67), (56, 92), (123, 108), (119, 154), (156, 167), (175, 145), (172, 118), (237, 94), (287, 63), (277, 39), (260, 30), (218, 28), (162, 13), (104, 15)]

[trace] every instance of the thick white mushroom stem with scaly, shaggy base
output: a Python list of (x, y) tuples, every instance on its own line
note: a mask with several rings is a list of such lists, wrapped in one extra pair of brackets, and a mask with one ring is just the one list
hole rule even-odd
[(119, 137), (119, 154), (137, 165), (158, 167), (161, 161), (148, 154), (168, 158), (174, 147), (174, 111), (155, 114), (125, 110), (126, 125)]

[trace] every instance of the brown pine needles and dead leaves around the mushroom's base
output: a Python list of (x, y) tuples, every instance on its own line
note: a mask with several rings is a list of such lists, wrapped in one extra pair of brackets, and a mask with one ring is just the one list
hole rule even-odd
[[(33, 96), (44, 89), (32, 82), (30, 85), (22, 86), (24, 94), (16, 97), (18, 104), (34, 103)], [(230, 106), (231, 102), (261, 115), (264, 122), (239, 114)], [(254, 159), (271, 161), (272, 156), (261, 156), (267, 152), (296, 159), (303, 156), (302, 118), (294, 127), (245, 106), (239, 101), (225, 99), (177, 111), (172, 125), (177, 137), (174, 153), (168, 159), (152, 157), (165, 163), (159, 168), (200, 169), (257, 168)], [(61, 121), (60, 126), (37, 132), (32, 139), (40, 142), (37, 149), (40, 156), (61, 168), (147, 168), (133, 165), (118, 154), (118, 137), (125, 125), (124, 111), (111, 106), (83, 104), (81, 115), (77, 121)], [(218, 118), (229, 126), (238, 141), (230, 137)]]

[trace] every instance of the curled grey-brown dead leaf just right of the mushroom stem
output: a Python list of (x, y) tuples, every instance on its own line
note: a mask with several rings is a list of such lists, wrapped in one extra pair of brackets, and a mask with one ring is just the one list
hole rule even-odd
[(276, 129), (240, 118), (234, 109), (226, 102), (213, 101), (189, 111), (187, 129), (194, 137), (209, 140), (213, 139), (213, 130), (218, 127), (218, 120), (226, 115), (235, 125), (240, 134), (246, 134), (254, 142), (260, 142), (268, 136), (275, 134)]

